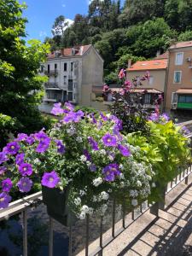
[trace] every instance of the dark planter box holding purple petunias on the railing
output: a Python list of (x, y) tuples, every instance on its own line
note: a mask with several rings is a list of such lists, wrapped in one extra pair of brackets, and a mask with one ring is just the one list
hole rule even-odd
[(68, 189), (49, 189), (42, 186), (43, 202), (47, 207), (49, 217), (54, 218), (65, 226), (69, 226), (76, 221), (73, 212), (67, 207)]

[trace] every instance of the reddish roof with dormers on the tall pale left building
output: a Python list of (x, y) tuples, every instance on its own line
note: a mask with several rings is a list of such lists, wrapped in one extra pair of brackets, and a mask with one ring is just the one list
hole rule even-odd
[[(71, 48), (65, 48), (61, 49), (59, 52), (61, 53), (60, 57), (62, 56), (82, 56), (84, 53), (90, 48), (91, 44), (88, 45), (81, 45), (79, 47), (71, 47)], [(76, 49), (75, 53), (72, 54), (72, 49)], [(47, 56), (48, 59), (54, 59), (55, 58), (55, 52), (50, 53)]]

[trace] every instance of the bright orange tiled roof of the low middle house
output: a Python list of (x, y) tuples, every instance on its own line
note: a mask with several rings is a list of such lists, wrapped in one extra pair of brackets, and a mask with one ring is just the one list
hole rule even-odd
[(152, 61), (137, 61), (127, 70), (130, 71), (140, 71), (140, 70), (153, 70), (153, 69), (166, 69), (167, 59), (162, 60), (152, 60)]

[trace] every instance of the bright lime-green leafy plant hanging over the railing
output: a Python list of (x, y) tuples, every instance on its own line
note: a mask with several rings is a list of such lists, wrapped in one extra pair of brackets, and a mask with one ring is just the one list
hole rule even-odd
[(166, 124), (148, 122), (150, 136), (141, 132), (127, 135), (128, 143), (141, 148), (140, 159), (150, 163), (154, 171), (152, 193), (149, 201), (162, 200), (166, 184), (191, 162), (188, 139), (172, 121)]

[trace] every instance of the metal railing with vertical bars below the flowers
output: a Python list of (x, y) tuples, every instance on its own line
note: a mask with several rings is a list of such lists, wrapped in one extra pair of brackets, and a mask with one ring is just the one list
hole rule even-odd
[[(192, 137), (192, 134), (187, 136), (188, 138)], [(190, 144), (191, 146), (191, 144)], [(103, 220), (104, 216), (100, 218), (100, 235), (99, 235), (99, 246), (95, 248), (91, 253), (89, 252), (90, 247), (90, 216), (86, 216), (86, 240), (85, 240), (85, 256), (94, 256), (98, 254), (102, 256), (103, 248), (107, 247), (108, 244), (113, 241), (117, 236), (119, 236), (124, 230), (126, 230), (133, 222), (137, 220), (144, 212), (147, 212), (148, 209), (150, 212), (156, 216), (159, 216), (159, 211), (165, 209), (165, 199), (166, 195), (172, 191), (179, 183), (184, 180), (184, 183), (188, 185), (189, 175), (192, 173), (192, 166), (184, 166), (183, 168), (178, 168), (176, 170), (176, 175), (170, 183), (167, 183), (166, 188), (162, 191), (162, 197), (164, 198), (163, 202), (156, 202), (152, 205), (148, 204), (148, 201), (144, 201), (136, 209), (125, 213), (125, 197), (122, 199), (122, 218), (121, 218), (121, 227), (119, 230), (115, 229), (115, 214), (116, 214), (116, 200), (113, 199), (113, 208), (112, 208), (112, 228), (111, 236), (108, 239), (103, 239)], [(11, 216), (15, 216), (18, 213), (22, 215), (22, 230), (23, 230), (23, 256), (27, 256), (27, 209), (29, 207), (34, 207), (37, 204), (42, 202), (42, 192), (35, 193), (33, 195), (28, 195), (23, 199), (14, 201), (9, 204), (9, 207), (6, 209), (0, 210), (0, 221), (7, 220)], [(125, 218), (131, 214), (131, 223), (126, 224)], [(69, 246), (68, 246), (68, 255), (73, 255), (73, 229), (72, 225), (69, 227)], [(54, 244), (54, 222), (52, 218), (49, 218), (49, 256), (53, 256), (53, 244)]]

